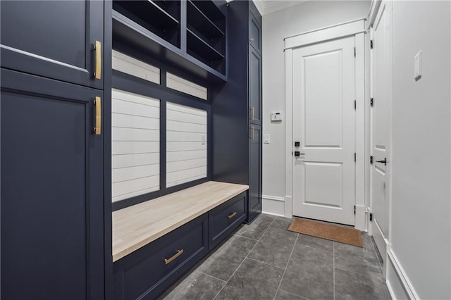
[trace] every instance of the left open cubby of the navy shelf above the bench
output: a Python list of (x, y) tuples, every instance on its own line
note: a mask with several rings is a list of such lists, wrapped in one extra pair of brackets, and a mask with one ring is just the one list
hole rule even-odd
[[(180, 13), (174, 13), (179, 18), (177, 20), (163, 9), (164, 2), (168, 1), (113, 1), (113, 9), (166, 42), (180, 47)], [(180, 11), (180, 1), (173, 2), (170, 6), (178, 6)], [(171, 9), (175, 11), (174, 8)]]

